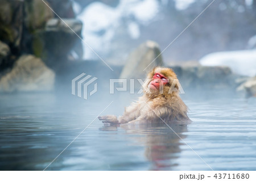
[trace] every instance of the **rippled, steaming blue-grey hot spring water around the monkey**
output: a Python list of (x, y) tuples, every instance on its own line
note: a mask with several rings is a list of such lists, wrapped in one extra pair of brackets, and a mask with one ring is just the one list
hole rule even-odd
[(255, 98), (185, 96), (193, 123), (172, 130), (104, 126), (96, 117), (112, 100), (102, 115), (121, 115), (131, 102), (0, 95), (0, 170), (44, 170), (93, 120), (47, 170), (256, 170)]

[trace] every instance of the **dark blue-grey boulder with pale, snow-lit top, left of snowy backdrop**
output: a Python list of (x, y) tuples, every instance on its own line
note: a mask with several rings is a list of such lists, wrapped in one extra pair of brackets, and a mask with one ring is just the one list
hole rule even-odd
[(46, 65), (52, 69), (63, 64), (68, 57), (82, 57), (81, 46), (74, 49), (76, 44), (81, 43), (77, 35), (81, 36), (82, 23), (77, 19), (63, 20), (70, 28), (60, 19), (53, 18), (48, 20), (45, 30), (36, 33), (32, 40), (34, 54), (42, 57)]

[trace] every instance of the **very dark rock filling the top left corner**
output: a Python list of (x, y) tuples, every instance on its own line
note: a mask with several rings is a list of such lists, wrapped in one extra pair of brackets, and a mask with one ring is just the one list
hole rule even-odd
[(0, 1), (0, 40), (19, 49), (22, 37), (23, 1)]

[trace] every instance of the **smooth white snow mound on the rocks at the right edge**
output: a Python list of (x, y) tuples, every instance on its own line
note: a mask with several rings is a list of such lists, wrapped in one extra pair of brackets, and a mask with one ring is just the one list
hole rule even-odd
[(240, 75), (256, 75), (256, 49), (210, 53), (199, 62), (203, 66), (229, 66)]

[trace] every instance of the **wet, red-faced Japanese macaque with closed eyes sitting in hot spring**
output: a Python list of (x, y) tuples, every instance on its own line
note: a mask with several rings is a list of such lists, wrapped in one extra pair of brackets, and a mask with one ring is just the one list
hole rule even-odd
[(179, 81), (172, 69), (156, 67), (147, 75), (144, 94), (127, 107), (122, 116), (99, 116), (102, 123), (180, 123), (189, 124), (187, 106), (179, 96)]

